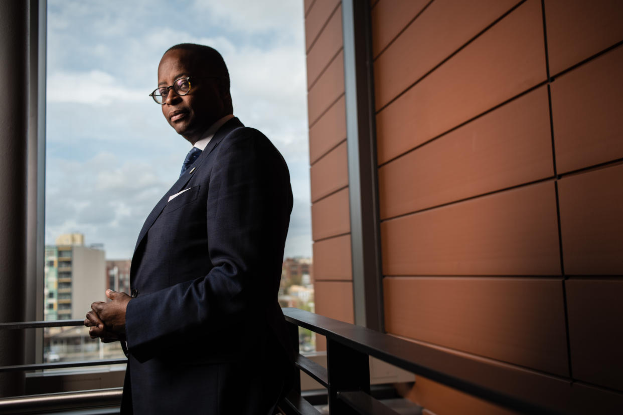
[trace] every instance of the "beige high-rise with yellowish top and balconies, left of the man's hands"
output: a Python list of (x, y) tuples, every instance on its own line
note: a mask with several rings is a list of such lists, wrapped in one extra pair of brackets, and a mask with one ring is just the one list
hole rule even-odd
[(82, 319), (93, 301), (104, 301), (103, 249), (84, 246), (80, 233), (61, 235), (45, 246), (45, 320)]

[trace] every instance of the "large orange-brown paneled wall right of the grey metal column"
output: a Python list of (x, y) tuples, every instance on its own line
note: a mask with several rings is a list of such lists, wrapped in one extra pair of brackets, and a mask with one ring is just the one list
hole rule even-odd
[[(386, 330), (623, 392), (623, 2), (371, 17)], [(437, 415), (502, 413), (417, 379)]]

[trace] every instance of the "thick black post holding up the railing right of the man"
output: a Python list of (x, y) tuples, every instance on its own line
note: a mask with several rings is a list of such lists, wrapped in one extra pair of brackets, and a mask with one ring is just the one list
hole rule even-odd
[(357, 414), (354, 409), (338, 399), (338, 391), (370, 393), (368, 355), (327, 338), (326, 363), (329, 377), (329, 412), (331, 414)]

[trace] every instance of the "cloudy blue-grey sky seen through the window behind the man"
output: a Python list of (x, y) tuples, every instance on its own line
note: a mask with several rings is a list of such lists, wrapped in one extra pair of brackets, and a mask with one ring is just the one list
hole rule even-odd
[(283, 154), (294, 207), (285, 256), (311, 256), (302, 0), (47, 2), (45, 243), (79, 232), (108, 259), (179, 176), (190, 144), (148, 94), (170, 46), (210, 45), (231, 77), (234, 114)]

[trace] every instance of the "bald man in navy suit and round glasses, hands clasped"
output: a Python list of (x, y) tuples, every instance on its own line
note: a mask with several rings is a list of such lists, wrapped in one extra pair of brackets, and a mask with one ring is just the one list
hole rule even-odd
[(107, 291), (85, 325), (128, 351), (122, 413), (272, 413), (295, 354), (277, 302), (288, 168), (232, 115), (216, 50), (169, 49), (151, 96), (193, 149), (140, 231), (131, 296)]

